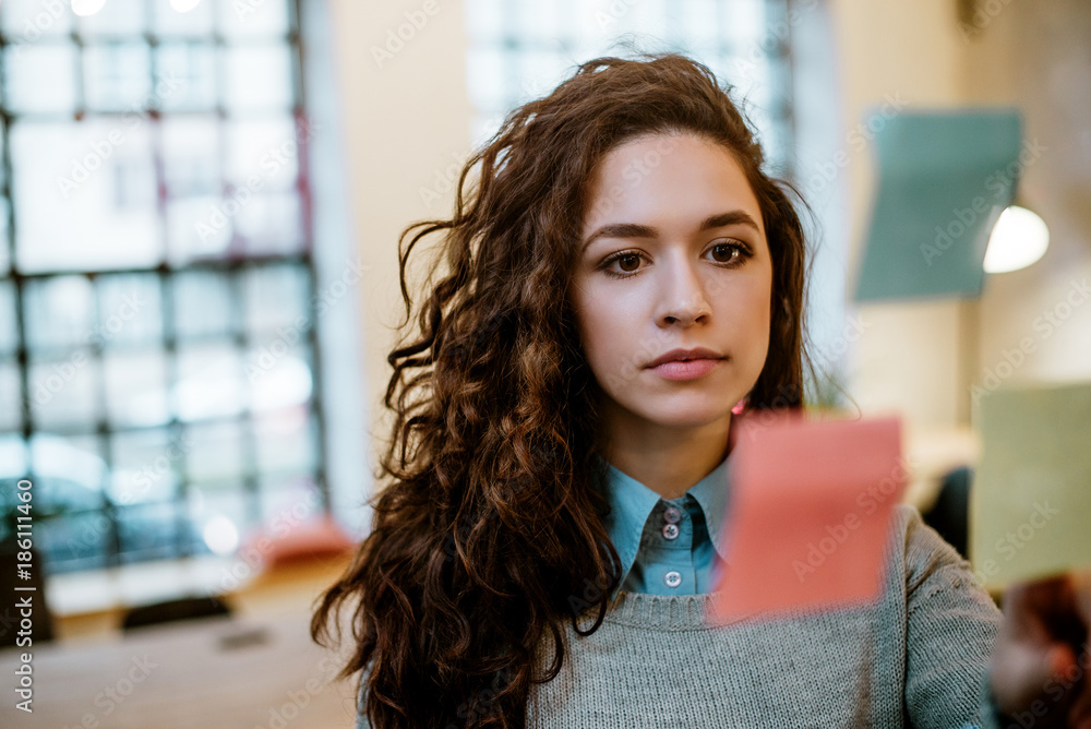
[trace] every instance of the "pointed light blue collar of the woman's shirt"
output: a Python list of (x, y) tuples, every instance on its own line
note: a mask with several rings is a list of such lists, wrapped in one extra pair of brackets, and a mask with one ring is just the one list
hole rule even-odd
[[(724, 560), (727, 560), (727, 539), (722, 531), (730, 488), (729, 457), (724, 456), (716, 468), (686, 491), (700, 506), (712, 547)], [(606, 461), (603, 463), (607, 465), (606, 495), (610, 502), (610, 513), (603, 519), (603, 525), (610, 540), (613, 541), (614, 549), (618, 550), (618, 557), (621, 558), (622, 572), (619, 583), (621, 585), (636, 562), (644, 525), (661, 497), (632, 476), (619, 470), (613, 464)]]

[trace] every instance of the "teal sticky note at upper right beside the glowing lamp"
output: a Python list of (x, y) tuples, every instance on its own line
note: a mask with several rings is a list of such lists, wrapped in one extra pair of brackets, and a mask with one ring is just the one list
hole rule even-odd
[(1016, 109), (886, 120), (875, 133), (877, 191), (856, 301), (981, 295), (988, 236), (1036, 154), (1021, 128)]

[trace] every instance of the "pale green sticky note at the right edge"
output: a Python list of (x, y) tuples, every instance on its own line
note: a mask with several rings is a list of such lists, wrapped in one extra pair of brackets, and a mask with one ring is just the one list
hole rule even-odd
[(1091, 566), (1091, 383), (997, 390), (973, 413), (970, 561), (986, 587)]

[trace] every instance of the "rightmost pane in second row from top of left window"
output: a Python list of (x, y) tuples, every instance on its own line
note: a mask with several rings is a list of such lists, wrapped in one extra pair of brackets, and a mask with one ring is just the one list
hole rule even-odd
[(278, 110), (292, 106), (291, 50), (239, 46), (224, 50), (224, 106), (230, 111)]

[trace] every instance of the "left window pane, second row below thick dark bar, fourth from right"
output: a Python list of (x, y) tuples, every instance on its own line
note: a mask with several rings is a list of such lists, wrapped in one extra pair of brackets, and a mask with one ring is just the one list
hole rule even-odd
[(96, 373), (91, 350), (63, 359), (31, 356), (31, 416), (36, 428), (94, 428), (99, 418)]

